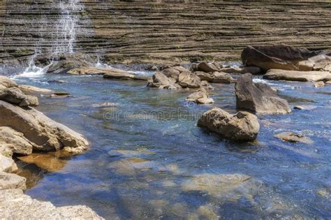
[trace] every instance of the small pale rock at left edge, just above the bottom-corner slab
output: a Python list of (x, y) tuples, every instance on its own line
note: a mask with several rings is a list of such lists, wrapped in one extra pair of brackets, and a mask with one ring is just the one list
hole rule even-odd
[[(14, 173), (5, 173), (0, 171), (0, 192), (3, 189), (27, 189), (25, 182), (27, 179)], [(2, 214), (2, 212), (1, 212)], [(1, 216), (2, 217), (2, 216)]]

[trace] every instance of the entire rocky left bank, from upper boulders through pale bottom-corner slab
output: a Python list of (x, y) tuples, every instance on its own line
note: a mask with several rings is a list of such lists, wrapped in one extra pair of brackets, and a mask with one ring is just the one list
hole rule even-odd
[(54, 122), (31, 106), (38, 98), (24, 94), (9, 78), (0, 77), (0, 212), (4, 219), (102, 219), (84, 205), (54, 207), (24, 195), (26, 179), (16, 175), (12, 156), (62, 150), (81, 154), (89, 143), (82, 135)]

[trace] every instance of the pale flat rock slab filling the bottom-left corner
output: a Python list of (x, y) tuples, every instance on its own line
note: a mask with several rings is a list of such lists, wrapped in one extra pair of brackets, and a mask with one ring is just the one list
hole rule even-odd
[(0, 190), (3, 219), (103, 219), (85, 205), (55, 207), (24, 195), (22, 189)]

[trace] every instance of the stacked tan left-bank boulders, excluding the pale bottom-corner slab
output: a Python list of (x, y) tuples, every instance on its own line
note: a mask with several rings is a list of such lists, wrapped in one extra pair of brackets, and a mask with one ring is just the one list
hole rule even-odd
[(13, 173), (17, 170), (13, 154), (59, 149), (79, 154), (89, 145), (79, 133), (32, 108), (36, 105), (36, 96), (25, 94), (13, 80), (0, 76), (0, 190), (26, 189), (26, 179)]

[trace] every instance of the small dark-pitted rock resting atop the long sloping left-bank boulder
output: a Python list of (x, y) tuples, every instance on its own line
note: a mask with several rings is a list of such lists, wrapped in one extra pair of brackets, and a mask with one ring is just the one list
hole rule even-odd
[(20, 106), (37, 106), (38, 98), (24, 94), (16, 87), (0, 89), (0, 100)]

